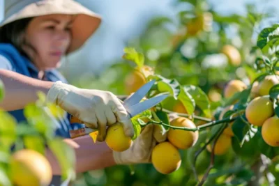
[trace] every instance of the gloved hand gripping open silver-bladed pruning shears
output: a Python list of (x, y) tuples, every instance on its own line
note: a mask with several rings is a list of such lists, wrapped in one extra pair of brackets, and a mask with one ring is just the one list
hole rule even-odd
[(47, 93), (47, 102), (53, 102), (78, 118), (86, 125), (84, 134), (98, 130), (98, 141), (104, 141), (107, 126), (121, 123), (127, 137), (133, 137), (134, 128), (131, 117), (149, 109), (165, 98), (159, 95), (140, 102), (155, 81), (144, 84), (137, 92), (123, 103), (116, 95), (99, 90), (77, 88), (62, 82), (56, 82)]

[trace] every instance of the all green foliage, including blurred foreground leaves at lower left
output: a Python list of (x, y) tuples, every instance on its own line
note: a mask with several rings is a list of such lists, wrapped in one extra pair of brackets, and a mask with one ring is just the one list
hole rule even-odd
[[(156, 84), (146, 98), (160, 93), (169, 93), (169, 98), (132, 118), (135, 128), (133, 140), (145, 125), (161, 125), (164, 132), (174, 128), (167, 114), (175, 112), (189, 118), (195, 127), (180, 127), (178, 130), (198, 131), (199, 138), (195, 145), (179, 150), (182, 162), (178, 170), (163, 175), (152, 164), (137, 164), (88, 171), (75, 178), (73, 149), (54, 136), (56, 118), (53, 116), (57, 116), (54, 113), (59, 111), (53, 112), (46, 107), (44, 95), (39, 94), (38, 102), (24, 109), (28, 119), (26, 123), (17, 123), (7, 112), (0, 112), (0, 131), (3, 134), (0, 138), (0, 178), (3, 178), (0, 183), (10, 184), (7, 170), (14, 152), (12, 146), (13, 150), (31, 148), (43, 154), (46, 145), (59, 160), (63, 178), (75, 180), (73, 185), (279, 183), (279, 147), (266, 144), (262, 126), (253, 125), (246, 117), (248, 104), (257, 96), (267, 96), (273, 104), (273, 116), (279, 116), (278, 84), (273, 84), (267, 95), (259, 95), (257, 91), (266, 76), (279, 75), (279, 25), (262, 29), (255, 41), (251, 36), (257, 24), (269, 15), (255, 13), (252, 5), (246, 7), (247, 15), (223, 16), (205, 6), (205, 0), (176, 2), (176, 6), (183, 4), (190, 8), (181, 10), (176, 20), (168, 17), (151, 20), (142, 35), (130, 40), (123, 49), (123, 61), (105, 70), (98, 79), (74, 82), (82, 88), (129, 95), (125, 82), (132, 81), (128, 76), (130, 73), (140, 71), (146, 82), (155, 79)], [(235, 31), (232, 34), (227, 32), (228, 29)], [(235, 49), (234, 52), (224, 51), (228, 45)], [(144, 66), (153, 68), (154, 73), (146, 75), (142, 70)], [(223, 91), (232, 79), (241, 80), (247, 88), (225, 98)], [(0, 98), (3, 98), (4, 87), (0, 85)], [(220, 118), (220, 113), (229, 105), (233, 108)], [(233, 134), (229, 136), (230, 146), (225, 154), (215, 155), (214, 150), (209, 150), (209, 145), (216, 149), (225, 148), (218, 139), (230, 125)]]

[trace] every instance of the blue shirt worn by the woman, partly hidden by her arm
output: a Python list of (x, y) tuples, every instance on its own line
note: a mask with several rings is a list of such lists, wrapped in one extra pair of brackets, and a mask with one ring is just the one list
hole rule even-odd
[[(36, 68), (29, 59), (25, 56), (22, 56), (20, 52), (11, 44), (0, 43), (0, 68), (6, 70), (12, 70), (14, 72), (26, 75), (28, 77), (33, 77), (38, 79), (38, 69)], [(61, 81), (67, 83), (66, 79), (61, 75), (59, 70), (47, 70), (45, 71), (45, 80), (50, 82)], [(23, 109), (9, 111), (12, 114), (17, 122), (26, 121), (26, 118), (23, 114)], [(59, 126), (56, 129), (56, 135), (64, 138), (70, 138), (70, 130), (75, 130), (84, 125), (80, 123), (70, 124), (70, 114), (66, 114), (62, 120), (59, 120)]]

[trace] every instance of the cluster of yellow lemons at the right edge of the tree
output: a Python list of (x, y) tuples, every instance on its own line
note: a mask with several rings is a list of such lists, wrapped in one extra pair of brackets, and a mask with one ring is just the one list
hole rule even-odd
[[(248, 102), (245, 110), (247, 121), (251, 125), (262, 127), (262, 138), (270, 146), (279, 146), (279, 118), (276, 116), (273, 103), (269, 98), (269, 90), (276, 84), (279, 84), (279, 77), (277, 75), (268, 75), (261, 82), (255, 82), (251, 91), (252, 100)], [(241, 92), (246, 88), (246, 84), (238, 79), (234, 79), (225, 87), (224, 97), (230, 98), (235, 93)], [(234, 109), (233, 104), (225, 107), (219, 119), (222, 119), (224, 114), (232, 109)], [(216, 155), (222, 155), (229, 150), (231, 146), (230, 137), (234, 136), (232, 124), (233, 122), (229, 123), (218, 139), (215, 148)]]

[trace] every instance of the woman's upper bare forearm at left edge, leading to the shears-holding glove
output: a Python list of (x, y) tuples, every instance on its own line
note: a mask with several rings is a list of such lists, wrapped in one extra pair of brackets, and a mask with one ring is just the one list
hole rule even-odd
[(4, 69), (0, 69), (0, 79), (5, 86), (5, 97), (0, 107), (6, 111), (24, 109), (30, 102), (38, 100), (38, 91), (47, 94), (54, 84)]

